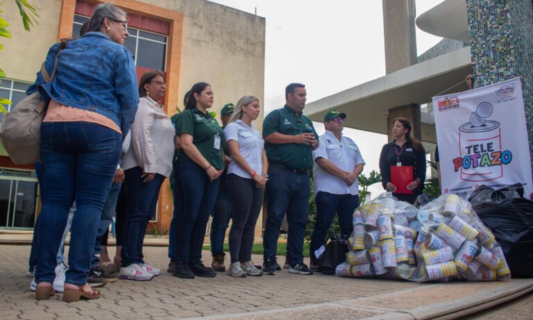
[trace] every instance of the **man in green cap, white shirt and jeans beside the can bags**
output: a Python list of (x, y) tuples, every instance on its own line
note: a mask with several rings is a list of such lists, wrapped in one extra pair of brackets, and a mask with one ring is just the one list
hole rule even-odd
[(324, 251), (325, 236), (335, 212), (339, 215), (341, 235), (352, 232), (352, 214), (359, 206), (357, 176), (365, 165), (357, 144), (342, 135), (346, 114), (331, 110), (325, 114), (325, 133), (319, 137), (319, 148), (313, 151), (313, 183), (316, 224), (311, 237), (311, 270), (318, 270)]

